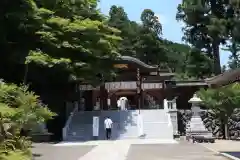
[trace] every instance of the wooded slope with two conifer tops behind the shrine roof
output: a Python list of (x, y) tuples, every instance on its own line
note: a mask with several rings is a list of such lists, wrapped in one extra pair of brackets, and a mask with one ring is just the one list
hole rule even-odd
[(115, 5), (111, 7), (109, 16), (108, 24), (121, 31), (121, 54), (151, 65), (165, 66), (185, 77), (199, 79), (212, 75), (212, 60), (206, 54), (161, 38), (162, 25), (150, 9), (142, 12), (141, 23), (129, 20), (124, 8)]

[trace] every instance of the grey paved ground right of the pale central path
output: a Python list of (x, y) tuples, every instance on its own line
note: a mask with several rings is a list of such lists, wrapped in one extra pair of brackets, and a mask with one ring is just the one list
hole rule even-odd
[(131, 145), (127, 160), (228, 160), (198, 144)]

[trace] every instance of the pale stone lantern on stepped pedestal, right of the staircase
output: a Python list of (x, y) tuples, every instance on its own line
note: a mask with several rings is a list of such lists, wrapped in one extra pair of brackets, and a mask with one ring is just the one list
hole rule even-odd
[(210, 131), (208, 131), (200, 117), (200, 103), (202, 100), (197, 97), (196, 94), (188, 101), (192, 104), (192, 118), (190, 122), (186, 126), (186, 135), (187, 138), (192, 138), (193, 141), (203, 142), (203, 141), (210, 141), (214, 142), (213, 135)]

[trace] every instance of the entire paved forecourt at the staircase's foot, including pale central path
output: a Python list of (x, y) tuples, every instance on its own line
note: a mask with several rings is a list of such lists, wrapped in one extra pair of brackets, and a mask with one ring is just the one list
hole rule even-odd
[(160, 140), (39, 144), (33, 152), (36, 160), (227, 160), (199, 144)]

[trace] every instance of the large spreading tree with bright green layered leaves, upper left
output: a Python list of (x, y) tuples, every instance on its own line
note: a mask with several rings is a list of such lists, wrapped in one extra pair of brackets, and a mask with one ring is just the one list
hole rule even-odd
[[(115, 59), (121, 38), (96, 7), (96, 0), (2, 1), (0, 45), (6, 63), (1, 63), (1, 68), (9, 68), (9, 73), (2, 70), (1, 77), (19, 83), (25, 75), (25, 79), (41, 83), (52, 70), (65, 73), (55, 78), (56, 82), (64, 77), (96, 79), (95, 74), (87, 75), (90, 70), (108, 74), (109, 66), (95, 62), (101, 58)], [(15, 74), (13, 68), (18, 68), (19, 76), (15, 79), (11, 76)], [(36, 68), (43, 70), (40, 80), (34, 78)]]

